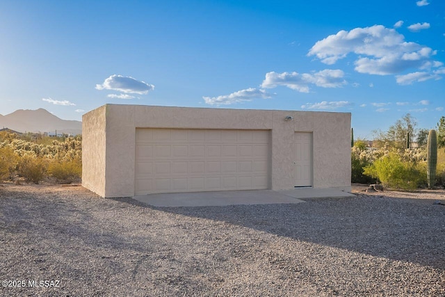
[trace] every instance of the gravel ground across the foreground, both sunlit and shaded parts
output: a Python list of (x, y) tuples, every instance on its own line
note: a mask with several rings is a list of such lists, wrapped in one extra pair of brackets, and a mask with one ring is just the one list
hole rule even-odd
[(0, 295), (444, 296), (445, 192), (355, 193), (156, 208), (0, 186), (0, 279), (25, 285)]

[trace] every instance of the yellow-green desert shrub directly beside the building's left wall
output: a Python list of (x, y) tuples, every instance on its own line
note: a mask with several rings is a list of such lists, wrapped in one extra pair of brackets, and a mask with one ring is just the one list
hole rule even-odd
[(48, 174), (57, 179), (57, 182), (70, 183), (81, 178), (82, 161), (74, 158), (70, 161), (53, 160), (49, 163)]

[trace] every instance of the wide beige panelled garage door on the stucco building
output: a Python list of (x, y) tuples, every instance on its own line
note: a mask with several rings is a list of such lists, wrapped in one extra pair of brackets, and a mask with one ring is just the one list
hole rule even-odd
[(136, 195), (269, 188), (268, 130), (136, 129)]

